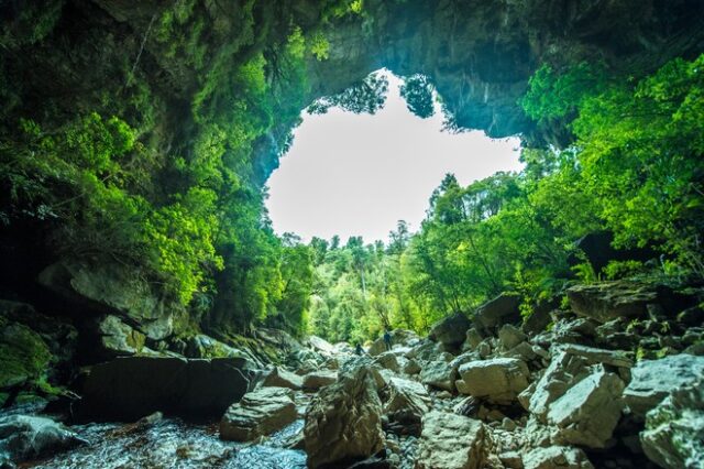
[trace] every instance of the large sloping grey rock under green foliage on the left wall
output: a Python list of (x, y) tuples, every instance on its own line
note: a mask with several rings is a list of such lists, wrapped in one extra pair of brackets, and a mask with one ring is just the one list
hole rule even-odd
[(127, 318), (153, 340), (186, 323), (178, 301), (164, 298), (138, 268), (113, 260), (64, 260), (44, 269), (38, 282), (87, 310)]

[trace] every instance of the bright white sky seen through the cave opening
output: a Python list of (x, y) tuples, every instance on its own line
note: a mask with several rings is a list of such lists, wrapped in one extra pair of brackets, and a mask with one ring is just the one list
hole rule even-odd
[(294, 144), (268, 179), (266, 207), (278, 234), (339, 234), (346, 242), (387, 241), (398, 220), (420, 227), (432, 190), (447, 173), (461, 185), (497, 171), (519, 171), (519, 139), (490, 139), (482, 131), (441, 132), (442, 113), (414, 116), (388, 75), (384, 109), (354, 114), (332, 108), (304, 112)]

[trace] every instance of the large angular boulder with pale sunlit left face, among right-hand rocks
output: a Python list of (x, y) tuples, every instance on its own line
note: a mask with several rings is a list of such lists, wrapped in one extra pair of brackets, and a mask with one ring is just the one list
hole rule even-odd
[(602, 366), (550, 405), (548, 423), (557, 426), (557, 444), (607, 447), (624, 407), (625, 384)]

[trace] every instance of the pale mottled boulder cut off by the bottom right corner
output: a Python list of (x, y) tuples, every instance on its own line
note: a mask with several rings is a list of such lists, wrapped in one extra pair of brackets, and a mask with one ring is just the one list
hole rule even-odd
[(704, 381), (673, 391), (648, 412), (640, 441), (662, 468), (703, 468)]

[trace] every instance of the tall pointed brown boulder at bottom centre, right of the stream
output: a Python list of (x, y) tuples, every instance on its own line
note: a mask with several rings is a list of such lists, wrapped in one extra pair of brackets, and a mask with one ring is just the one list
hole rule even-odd
[(304, 427), (308, 467), (345, 467), (343, 462), (365, 459), (384, 447), (375, 374), (369, 361), (352, 360), (337, 383), (312, 399)]

